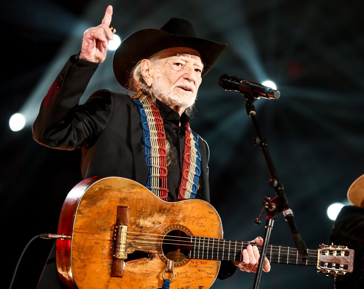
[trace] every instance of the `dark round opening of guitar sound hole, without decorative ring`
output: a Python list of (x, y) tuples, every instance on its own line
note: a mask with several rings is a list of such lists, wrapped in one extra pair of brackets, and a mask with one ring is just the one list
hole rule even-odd
[(162, 251), (167, 259), (180, 262), (187, 258), (191, 250), (191, 237), (180, 230), (168, 232), (162, 242)]

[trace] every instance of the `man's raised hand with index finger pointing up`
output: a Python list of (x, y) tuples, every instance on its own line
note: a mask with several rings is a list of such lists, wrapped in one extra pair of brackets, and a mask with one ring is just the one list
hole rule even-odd
[(112, 6), (108, 5), (101, 24), (88, 28), (84, 32), (80, 59), (96, 63), (101, 63), (105, 60), (108, 42), (114, 39), (114, 34), (110, 30), (111, 16)]

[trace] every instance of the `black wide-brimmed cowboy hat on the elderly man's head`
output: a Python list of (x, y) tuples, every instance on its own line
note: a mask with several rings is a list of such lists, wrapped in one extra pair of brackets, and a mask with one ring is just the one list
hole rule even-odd
[(171, 18), (161, 29), (142, 29), (124, 39), (114, 53), (112, 67), (116, 79), (126, 86), (131, 69), (141, 59), (171, 47), (189, 47), (201, 55), (202, 77), (211, 69), (226, 48), (207, 39), (197, 38), (192, 23), (187, 19)]

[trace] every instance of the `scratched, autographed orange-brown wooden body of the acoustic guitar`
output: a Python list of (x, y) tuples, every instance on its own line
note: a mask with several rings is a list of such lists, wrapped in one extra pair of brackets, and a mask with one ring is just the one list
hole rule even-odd
[[(122, 217), (127, 223), (127, 258), (116, 265), (122, 277), (111, 277), (118, 206), (127, 211)], [(222, 238), (220, 217), (205, 201), (168, 203), (137, 182), (120, 177), (84, 180), (68, 194), (60, 215), (58, 234), (71, 236), (57, 240), (60, 278), (68, 287), (80, 289), (162, 287), (165, 254), (169, 257), (173, 249), (162, 248), (161, 236), (171, 231), (184, 232), (186, 238)], [(170, 288), (206, 289), (214, 283), (220, 261), (183, 258), (182, 249), (177, 254)], [(165, 276), (172, 278), (168, 272)]]

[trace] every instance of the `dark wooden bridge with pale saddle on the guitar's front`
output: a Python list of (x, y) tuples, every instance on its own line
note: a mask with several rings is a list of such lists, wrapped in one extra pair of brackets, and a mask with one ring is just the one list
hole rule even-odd
[(123, 277), (129, 207), (118, 206), (114, 229), (111, 277)]

